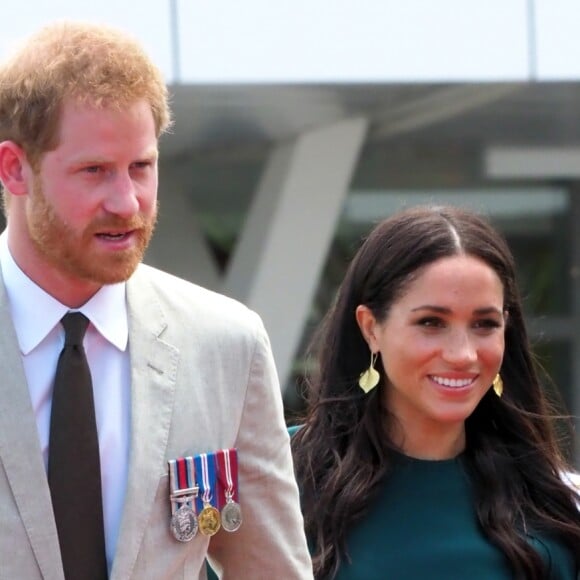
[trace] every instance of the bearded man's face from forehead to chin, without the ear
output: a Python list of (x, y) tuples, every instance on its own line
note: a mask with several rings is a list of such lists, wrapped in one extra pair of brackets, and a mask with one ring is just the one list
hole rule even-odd
[(26, 203), (33, 262), (73, 283), (126, 280), (143, 258), (157, 216), (151, 109), (145, 101), (120, 111), (68, 101), (59, 136), (34, 173)]

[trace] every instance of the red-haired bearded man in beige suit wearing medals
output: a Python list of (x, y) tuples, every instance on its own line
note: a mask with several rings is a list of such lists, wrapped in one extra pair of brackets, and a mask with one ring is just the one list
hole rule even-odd
[[(206, 557), (224, 578), (312, 577), (260, 319), (141, 264), (157, 214), (158, 138), (169, 123), (159, 71), (106, 27), (51, 25), (0, 67), (2, 578), (205, 578)], [(96, 426), (98, 448), (85, 483), (76, 479), (85, 447), (74, 462), (62, 460), (70, 449), (55, 459), (63, 441), (85, 441), (56, 434), (68, 421), (57, 412), (55, 374), (69, 311), (89, 320), (80, 344), (66, 340), (90, 367), (95, 418), (78, 423)], [(239, 475), (227, 476), (243, 521), (234, 510), (229, 530), (213, 535), (223, 506), (204, 465), (233, 449)], [(176, 484), (171, 465), (191, 468), (179, 472), (190, 479)], [(102, 518), (87, 515), (101, 502), (85, 499), (85, 488), (102, 494)], [(213, 527), (193, 534), (206, 508)], [(100, 519), (104, 571), (69, 571), (87, 565), (83, 550), (101, 557), (75, 538)], [(75, 554), (83, 555), (68, 568)]]

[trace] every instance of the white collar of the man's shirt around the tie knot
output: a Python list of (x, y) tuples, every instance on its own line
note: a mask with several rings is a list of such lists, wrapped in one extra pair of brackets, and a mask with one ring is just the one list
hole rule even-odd
[[(10, 253), (7, 238), (5, 231), (0, 236), (0, 267), (20, 352), (27, 355), (70, 309), (45, 292), (19, 268)], [(103, 286), (78, 310), (116, 348), (121, 351), (127, 348), (129, 325), (124, 282)]]

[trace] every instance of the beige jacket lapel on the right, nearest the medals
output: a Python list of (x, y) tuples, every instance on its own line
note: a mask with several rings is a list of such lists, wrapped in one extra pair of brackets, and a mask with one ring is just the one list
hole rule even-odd
[(142, 268), (127, 282), (131, 356), (129, 478), (111, 580), (131, 577), (159, 479), (167, 473), (179, 351), (161, 339), (167, 321)]

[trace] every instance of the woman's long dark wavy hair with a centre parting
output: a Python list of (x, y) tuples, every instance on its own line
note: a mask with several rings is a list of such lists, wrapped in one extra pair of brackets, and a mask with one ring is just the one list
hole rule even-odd
[(357, 384), (370, 355), (356, 307), (364, 304), (384, 321), (425, 266), (457, 254), (477, 257), (497, 273), (508, 312), (503, 397), (489, 391), (466, 421), (464, 457), (480, 525), (516, 578), (546, 578), (542, 559), (525, 539), (530, 530), (564, 542), (580, 565), (579, 497), (561, 478), (569, 467), (532, 360), (511, 252), (471, 212), (414, 208), (371, 232), (313, 342), (318, 371), (308, 379), (307, 414), (292, 448), (316, 578), (333, 578), (348, 559), (347, 531), (380, 491), (395, 449), (387, 435), (393, 418), (381, 407), (388, 384), (380, 357), (379, 387), (365, 395)]

